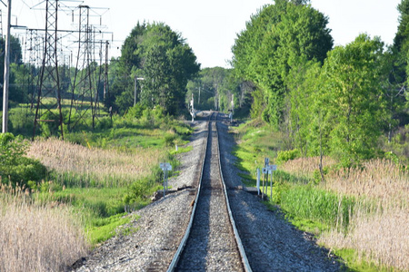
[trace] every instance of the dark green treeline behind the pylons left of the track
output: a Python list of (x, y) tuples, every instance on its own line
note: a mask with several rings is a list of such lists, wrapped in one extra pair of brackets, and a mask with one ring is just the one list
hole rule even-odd
[[(23, 63), (18, 39), (12, 37), (11, 44), (9, 100), (13, 107), (16, 103), (36, 101), (42, 67)], [(4, 41), (0, 46), (3, 52)], [(1, 58), (4, 62), (4, 54)], [(3, 70), (2, 66), (1, 79)], [(162, 23), (136, 24), (122, 45), (121, 56), (112, 58), (107, 67), (105, 63), (95, 60), (77, 67), (62, 62), (58, 66), (63, 99), (80, 97), (85, 102), (103, 102), (106, 111), (111, 109), (121, 114), (134, 106), (135, 102), (147, 108), (160, 105), (169, 114), (183, 112), (186, 108), (187, 81), (199, 70), (200, 64), (196, 61), (195, 53), (182, 35)], [(108, 75), (107, 86), (105, 74)], [(136, 78), (139, 79), (137, 82)], [(45, 78), (44, 84), (51, 85), (48, 83), (50, 80), (53, 79)], [(85, 93), (85, 89), (92, 91)]]

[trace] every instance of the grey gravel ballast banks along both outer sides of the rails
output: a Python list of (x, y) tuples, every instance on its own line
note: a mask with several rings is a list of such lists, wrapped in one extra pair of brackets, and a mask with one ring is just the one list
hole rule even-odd
[[(195, 188), (206, 134), (206, 121), (195, 121), (195, 133), (189, 143), (193, 150), (180, 155), (181, 172), (169, 180), (173, 189)], [(234, 139), (228, 133), (227, 122), (219, 123), (219, 134), (224, 180), (231, 188), (243, 186), (234, 167), (235, 158), (231, 154)], [(183, 189), (135, 211), (140, 218), (128, 226), (135, 230), (132, 234), (109, 239), (78, 260), (74, 270), (165, 271), (185, 233), (194, 199), (192, 189)], [(253, 271), (340, 270), (324, 248), (294, 229), (279, 212), (266, 209), (254, 195), (229, 189), (229, 199)]]

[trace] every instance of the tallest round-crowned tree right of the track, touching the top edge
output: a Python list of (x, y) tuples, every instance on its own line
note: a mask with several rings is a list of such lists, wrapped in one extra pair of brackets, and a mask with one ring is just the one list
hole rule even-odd
[(277, 0), (264, 6), (246, 24), (233, 47), (237, 76), (262, 90), (263, 95), (257, 98), (263, 102), (256, 102), (254, 97), (254, 104), (264, 104), (258, 114), (275, 128), (288, 113), (284, 107), (288, 93), (285, 82), (291, 67), (300, 58), (323, 63), (333, 46), (326, 28), (328, 19), (310, 5), (301, 4)]

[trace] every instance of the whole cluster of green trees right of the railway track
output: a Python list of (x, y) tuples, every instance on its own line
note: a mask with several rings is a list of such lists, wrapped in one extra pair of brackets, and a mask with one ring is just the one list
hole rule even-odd
[(237, 35), (235, 76), (256, 86), (251, 116), (284, 131), (287, 148), (303, 156), (331, 155), (344, 166), (382, 157), (380, 136), (409, 122), (409, 1), (398, 7), (393, 46), (360, 34), (334, 48), (328, 18), (308, 2), (265, 5)]

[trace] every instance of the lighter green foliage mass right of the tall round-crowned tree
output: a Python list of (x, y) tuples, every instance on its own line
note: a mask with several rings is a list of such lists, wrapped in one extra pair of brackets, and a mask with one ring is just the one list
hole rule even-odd
[(362, 34), (328, 53), (324, 66), (292, 67), (286, 133), (304, 156), (332, 155), (344, 167), (374, 158), (389, 119), (384, 95), (384, 44)]

